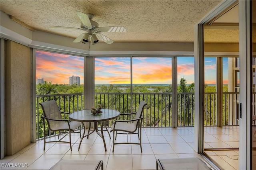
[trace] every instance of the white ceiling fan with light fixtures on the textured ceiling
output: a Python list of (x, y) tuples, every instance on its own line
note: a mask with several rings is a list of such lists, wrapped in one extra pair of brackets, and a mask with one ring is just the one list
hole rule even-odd
[(124, 26), (110, 26), (110, 27), (99, 27), (99, 24), (92, 20), (94, 17), (93, 14), (84, 14), (82, 12), (76, 12), (78, 17), (81, 20), (81, 27), (60, 27), (60, 26), (50, 26), (52, 28), (65, 28), (65, 29), (78, 29), (83, 30), (85, 33), (80, 34), (73, 42), (74, 43), (86, 43), (91, 41), (91, 44), (96, 44), (99, 39), (104, 41), (107, 44), (111, 44), (114, 41), (105, 35), (102, 32), (126, 32)]

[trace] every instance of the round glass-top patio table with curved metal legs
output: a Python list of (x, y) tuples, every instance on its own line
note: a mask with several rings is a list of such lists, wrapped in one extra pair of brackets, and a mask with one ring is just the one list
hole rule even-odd
[[(102, 111), (102, 113), (97, 113), (94, 115), (94, 114), (92, 114), (91, 109), (85, 109), (85, 110), (75, 111), (69, 115), (69, 118), (74, 121), (94, 123), (94, 129), (92, 132), (85, 135), (85, 129), (84, 129), (84, 133), (81, 138), (78, 150), (80, 149), (80, 146), (81, 146), (81, 143), (82, 143), (82, 140), (84, 139), (84, 137), (87, 137), (88, 135), (90, 135), (94, 131), (96, 131), (96, 133), (98, 133), (98, 135), (102, 138), (104, 147), (105, 147), (105, 151), (107, 151), (106, 143), (105, 143), (105, 139), (104, 139), (104, 135), (103, 135), (104, 121), (115, 119), (116, 117), (118, 117), (120, 115), (120, 112), (117, 110), (113, 110), (113, 109), (101, 109), (101, 111)], [(101, 122), (100, 123), (101, 124), (101, 126), (100, 126), (101, 134), (98, 132), (98, 122)]]

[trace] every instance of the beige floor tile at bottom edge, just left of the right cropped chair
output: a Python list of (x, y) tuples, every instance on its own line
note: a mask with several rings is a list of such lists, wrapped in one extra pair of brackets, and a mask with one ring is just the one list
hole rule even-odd
[(132, 155), (134, 170), (156, 169), (156, 158), (154, 154)]

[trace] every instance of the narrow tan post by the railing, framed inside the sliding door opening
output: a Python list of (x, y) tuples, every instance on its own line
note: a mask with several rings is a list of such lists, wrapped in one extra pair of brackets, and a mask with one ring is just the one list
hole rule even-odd
[(223, 115), (223, 71), (222, 71), (222, 57), (216, 58), (216, 92), (217, 92), (217, 127), (222, 127), (222, 115)]

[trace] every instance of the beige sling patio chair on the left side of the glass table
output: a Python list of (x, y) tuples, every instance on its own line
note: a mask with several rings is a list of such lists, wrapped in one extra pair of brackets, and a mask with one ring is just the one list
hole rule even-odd
[[(42, 116), (43, 124), (44, 124), (44, 150), (45, 144), (50, 142), (61, 142), (61, 143), (69, 143), (70, 150), (72, 150), (71, 146), (71, 133), (80, 133), (81, 138), (81, 123), (84, 125), (83, 122), (78, 121), (70, 121), (69, 119), (62, 119), (62, 114), (70, 114), (59, 110), (59, 107), (55, 100), (49, 100), (46, 102), (40, 103), (42, 106), (44, 115)], [(60, 138), (60, 133), (66, 133), (59, 141), (47, 141), (46, 142), (46, 129), (45, 129), (45, 120), (47, 121), (48, 127), (50, 131), (58, 131), (58, 139)], [(79, 131), (75, 132), (75, 130), (79, 127)], [(85, 126), (84, 126), (85, 127)], [(69, 134), (69, 141), (61, 141), (66, 135)]]

